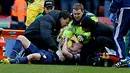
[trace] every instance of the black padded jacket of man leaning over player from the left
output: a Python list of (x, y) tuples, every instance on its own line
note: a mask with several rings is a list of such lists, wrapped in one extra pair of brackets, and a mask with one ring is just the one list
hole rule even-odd
[(49, 48), (56, 51), (57, 44), (54, 37), (59, 33), (61, 26), (59, 15), (59, 10), (53, 10), (41, 16), (26, 29), (24, 36), (40, 49)]

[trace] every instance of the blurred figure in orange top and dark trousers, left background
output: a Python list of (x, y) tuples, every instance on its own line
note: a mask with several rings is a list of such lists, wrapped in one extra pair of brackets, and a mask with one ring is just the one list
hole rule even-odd
[(11, 29), (25, 29), (26, 1), (15, 0), (11, 7)]

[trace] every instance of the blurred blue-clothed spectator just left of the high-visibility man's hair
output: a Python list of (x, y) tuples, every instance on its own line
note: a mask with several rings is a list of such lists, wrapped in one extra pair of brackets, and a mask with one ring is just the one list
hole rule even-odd
[(60, 0), (61, 10), (67, 10), (72, 13), (72, 6), (77, 2), (78, 0)]

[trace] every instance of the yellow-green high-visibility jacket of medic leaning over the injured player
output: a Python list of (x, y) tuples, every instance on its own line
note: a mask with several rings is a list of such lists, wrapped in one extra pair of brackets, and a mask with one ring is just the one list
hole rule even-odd
[[(86, 12), (84, 13), (84, 17), (89, 17), (92, 20), (94, 20), (95, 22), (98, 22), (98, 18), (90, 13), (90, 12)], [(82, 20), (81, 20), (82, 21)], [(84, 38), (84, 41), (82, 42), (83, 44), (87, 44), (89, 42), (89, 40), (92, 38), (91, 37), (91, 32), (85, 32), (81, 26), (79, 25), (72, 25), (74, 22), (74, 20), (72, 20), (68, 26), (65, 28), (62, 37), (64, 38), (66, 35), (68, 36), (68, 38), (70, 39), (73, 35), (82, 35)]]

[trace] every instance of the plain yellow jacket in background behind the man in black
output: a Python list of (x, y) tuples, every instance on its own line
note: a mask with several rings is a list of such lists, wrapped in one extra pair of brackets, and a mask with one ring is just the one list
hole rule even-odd
[(28, 4), (26, 26), (28, 27), (36, 18), (39, 13), (44, 11), (44, 0), (35, 0), (33, 3)]

